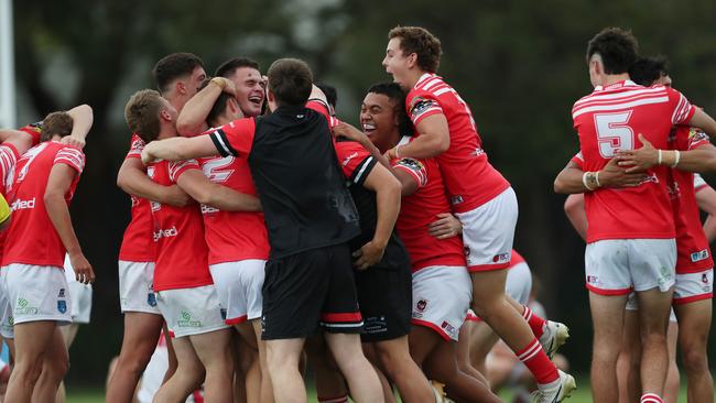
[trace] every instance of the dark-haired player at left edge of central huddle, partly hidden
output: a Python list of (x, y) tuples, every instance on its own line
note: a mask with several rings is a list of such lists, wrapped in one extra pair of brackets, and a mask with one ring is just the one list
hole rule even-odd
[[(160, 92), (182, 110), (206, 78), (204, 63), (191, 53), (173, 53), (153, 68)], [(137, 382), (149, 363), (162, 328), (162, 316), (153, 293), (155, 250), (152, 241), (150, 202), (184, 206), (188, 196), (178, 186), (161, 186), (147, 176), (140, 161), (144, 141), (132, 135), (131, 146), (119, 168), (117, 185), (131, 197), (132, 219), (127, 226), (119, 251), (119, 295), (124, 314), (124, 335), (117, 367), (107, 385), (107, 402), (130, 403)], [(169, 331), (165, 333), (169, 335)], [(167, 336), (169, 337), (169, 336)], [(171, 373), (176, 368), (170, 348)]]

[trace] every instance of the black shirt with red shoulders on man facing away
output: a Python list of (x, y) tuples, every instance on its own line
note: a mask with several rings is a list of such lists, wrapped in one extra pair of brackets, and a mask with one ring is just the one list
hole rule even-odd
[(359, 232), (328, 119), (323, 105), (308, 102), (235, 120), (209, 134), (223, 156), (248, 156), (272, 259), (345, 243)]

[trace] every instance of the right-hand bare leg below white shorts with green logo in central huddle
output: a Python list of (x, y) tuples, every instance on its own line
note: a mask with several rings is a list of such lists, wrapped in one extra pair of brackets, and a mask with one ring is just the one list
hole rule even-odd
[(204, 393), (209, 402), (231, 403), (234, 357), (231, 356), (231, 329), (214, 330), (188, 336), (196, 356), (206, 369)]

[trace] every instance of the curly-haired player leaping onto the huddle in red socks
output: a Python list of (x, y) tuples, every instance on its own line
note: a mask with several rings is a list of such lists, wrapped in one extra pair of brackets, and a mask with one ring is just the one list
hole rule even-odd
[(464, 228), (473, 309), (534, 374), (539, 400), (561, 401), (575, 388), (574, 378), (550, 361), (534, 335), (541, 329), (531, 331), (530, 324), (514, 312), (505, 295), (518, 216), (514, 192), (487, 161), (467, 104), (435, 74), (442, 52), (440, 41), (417, 26), (397, 26), (388, 39), (382, 65), (395, 83), (410, 91), (406, 110), (417, 132), (415, 141), (398, 144), (388, 154), (397, 159), (436, 159), (451, 208)]

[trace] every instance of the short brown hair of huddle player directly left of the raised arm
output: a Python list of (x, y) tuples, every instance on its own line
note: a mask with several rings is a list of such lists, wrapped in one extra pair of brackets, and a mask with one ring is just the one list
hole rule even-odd
[(124, 119), (132, 133), (149, 143), (159, 137), (159, 113), (163, 108), (162, 96), (158, 91), (140, 89), (124, 106)]

